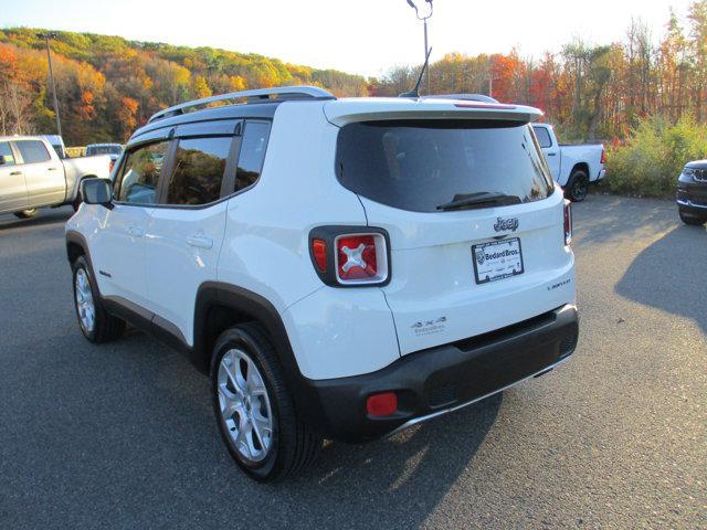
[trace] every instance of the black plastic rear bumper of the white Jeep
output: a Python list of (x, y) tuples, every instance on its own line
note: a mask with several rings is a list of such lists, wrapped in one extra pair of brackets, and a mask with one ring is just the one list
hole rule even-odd
[[(418, 351), (382, 370), (351, 378), (308, 380), (315, 425), (346, 442), (374, 439), (500, 392), (548, 371), (577, 346), (577, 308), (562, 306), (539, 317), (472, 339)], [(366, 412), (370, 394), (394, 391), (398, 411)], [(314, 405), (314, 404), (313, 404)]]

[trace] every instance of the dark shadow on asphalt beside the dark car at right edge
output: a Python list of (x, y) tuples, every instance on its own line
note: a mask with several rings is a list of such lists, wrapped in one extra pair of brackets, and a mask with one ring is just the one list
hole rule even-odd
[(707, 230), (680, 225), (635, 257), (615, 292), (639, 304), (690, 318), (707, 333), (706, 272)]

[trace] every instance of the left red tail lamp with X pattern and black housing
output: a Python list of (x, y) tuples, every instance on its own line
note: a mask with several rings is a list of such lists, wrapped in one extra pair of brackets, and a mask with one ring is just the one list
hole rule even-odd
[(334, 287), (386, 285), (390, 280), (388, 233), (368, 226), (318, 226), (309, 255), (321, 280)]

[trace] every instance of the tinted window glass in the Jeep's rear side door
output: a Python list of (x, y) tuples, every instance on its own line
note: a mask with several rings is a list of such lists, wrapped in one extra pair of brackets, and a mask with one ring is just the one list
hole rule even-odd
[(232, 137), (179, 140), (168, 204), (207, 204), (221, 197), (221, 182)]

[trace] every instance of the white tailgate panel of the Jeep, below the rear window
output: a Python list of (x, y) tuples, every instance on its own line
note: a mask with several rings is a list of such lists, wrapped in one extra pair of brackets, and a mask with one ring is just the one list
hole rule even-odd
[[(402, 354), (493, 331), (574, 299), (559, 188), (541, 201), (460, 212), (407, 212), (362, 202), (371, 224), (390, 234), (394, 274), (383, 292)], [(498, 218), (518, 219), (517, 231), (502, 237), (520, 239), (525, 272), (477, 285), (472, 245), (499, 237), (493, 227)], [(558, 283), (560, 288), (549, 288)]]

